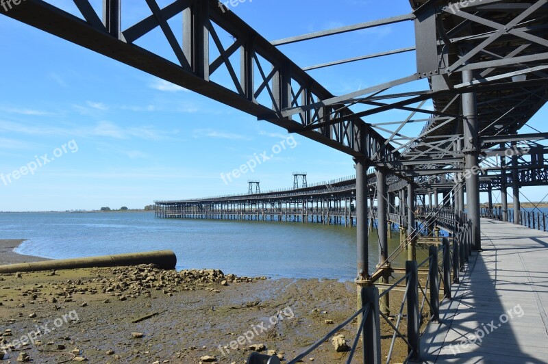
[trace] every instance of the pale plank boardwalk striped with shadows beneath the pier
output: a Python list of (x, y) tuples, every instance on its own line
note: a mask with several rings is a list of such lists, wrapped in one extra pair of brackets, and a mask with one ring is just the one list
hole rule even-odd
[(548, 233), (482, 219), (482, 248), (423, 335), (423, 360), (548, 363)]

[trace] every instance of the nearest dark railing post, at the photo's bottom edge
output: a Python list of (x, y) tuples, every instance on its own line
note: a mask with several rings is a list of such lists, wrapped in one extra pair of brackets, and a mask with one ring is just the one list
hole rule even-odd
[(362, 315), (364, 324), (364, 364), (381, 364), (381, 325), (379, 310), (379, 289), (362, 287), (362, 302), (369, 304), (369, 312)]

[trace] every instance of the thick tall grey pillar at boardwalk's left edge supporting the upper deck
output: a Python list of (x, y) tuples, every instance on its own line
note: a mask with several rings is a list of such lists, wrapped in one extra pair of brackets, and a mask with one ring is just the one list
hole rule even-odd
[[(473, 72), (466, 70), (462, 73), (462, 82), (469, 83), (473, 79)], [(472, 248), (482, 248), (482, 235), (479, 226), (479, 155), (478, 155), (478, 120), (477, 100), (475, 92), (462, 94), (462, 116), (464, 129), (464, 161), (466, 177), (466, 207), (468, 220), (472, 227)]]

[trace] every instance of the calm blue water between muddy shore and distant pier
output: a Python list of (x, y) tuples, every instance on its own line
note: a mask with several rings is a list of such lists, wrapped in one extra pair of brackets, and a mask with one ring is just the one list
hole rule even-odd
[[(166, 220), (153, 213), (0, 213), (0, 238), (28, 239), (17, 252), (52, 259), (171, 249), (177, 269), (273, 278), (356, 275), (356, 229), (344, 226)], [(375, 231), (369, 240), (373, 270), (379, 254)], [(389, 244), (393, 251), (399, 234)]]

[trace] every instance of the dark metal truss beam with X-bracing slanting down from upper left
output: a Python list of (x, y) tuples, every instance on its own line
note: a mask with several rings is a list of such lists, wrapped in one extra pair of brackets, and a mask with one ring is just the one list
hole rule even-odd
[[(77, 0), (77, 4), (87, 21), (41, 0), (27, 0), (9, 12), (0, 13), (284, 129), (295, 131), (323, 116), (331, 118), (334, 115), (342, 121), (330, 127), (297, 132), (353, 157), (369, 158), (386, 142), (346, 107), (334, 111), (332, 107), (316, 106), (316, 100), (331, 99), (333, 95), (234, 13), (223, 12), (215, 0), (175, 0), (162, 9), (155, 0), (147, 0), (153, 14), (114, 36), (97, 21), (88, 0)], [(183, 14), (185, 21), (183, 46), (177, 44), (167, 23), (178, 14)], [(177, 56), (178, 64), (134, 44), (158, 27)], [(235, 38), (234, 44), (225, 49), (216, 27), (231, 34)], [(210, 60), (210, 40), (212, 47), (221, 54), (215, 60)], [(234, 65), (229, 57), (238, 50), (242, 55), (241, 64)], [(212, 73), (222, 65), (231, 75), (226, 85), (210, 81)], [(254, 66), (266, 71), (262, 73), (260, 84), (255, 83)], [(240, 75), (236, 73), (237, 67), (243, 71)], [(262, 94), (268, 94), (271, 103), (258, 103)], [(299, 98), (304, 94), (306, 97)], [(301, 105), (301, 102), (314, 106), (308, 108), (308, 112), (299, 113), (297, 120), (282, 115), (282, 109)], [(382, 157), (397, 159), (399, 153), (392, 150), (388, 146)]]

